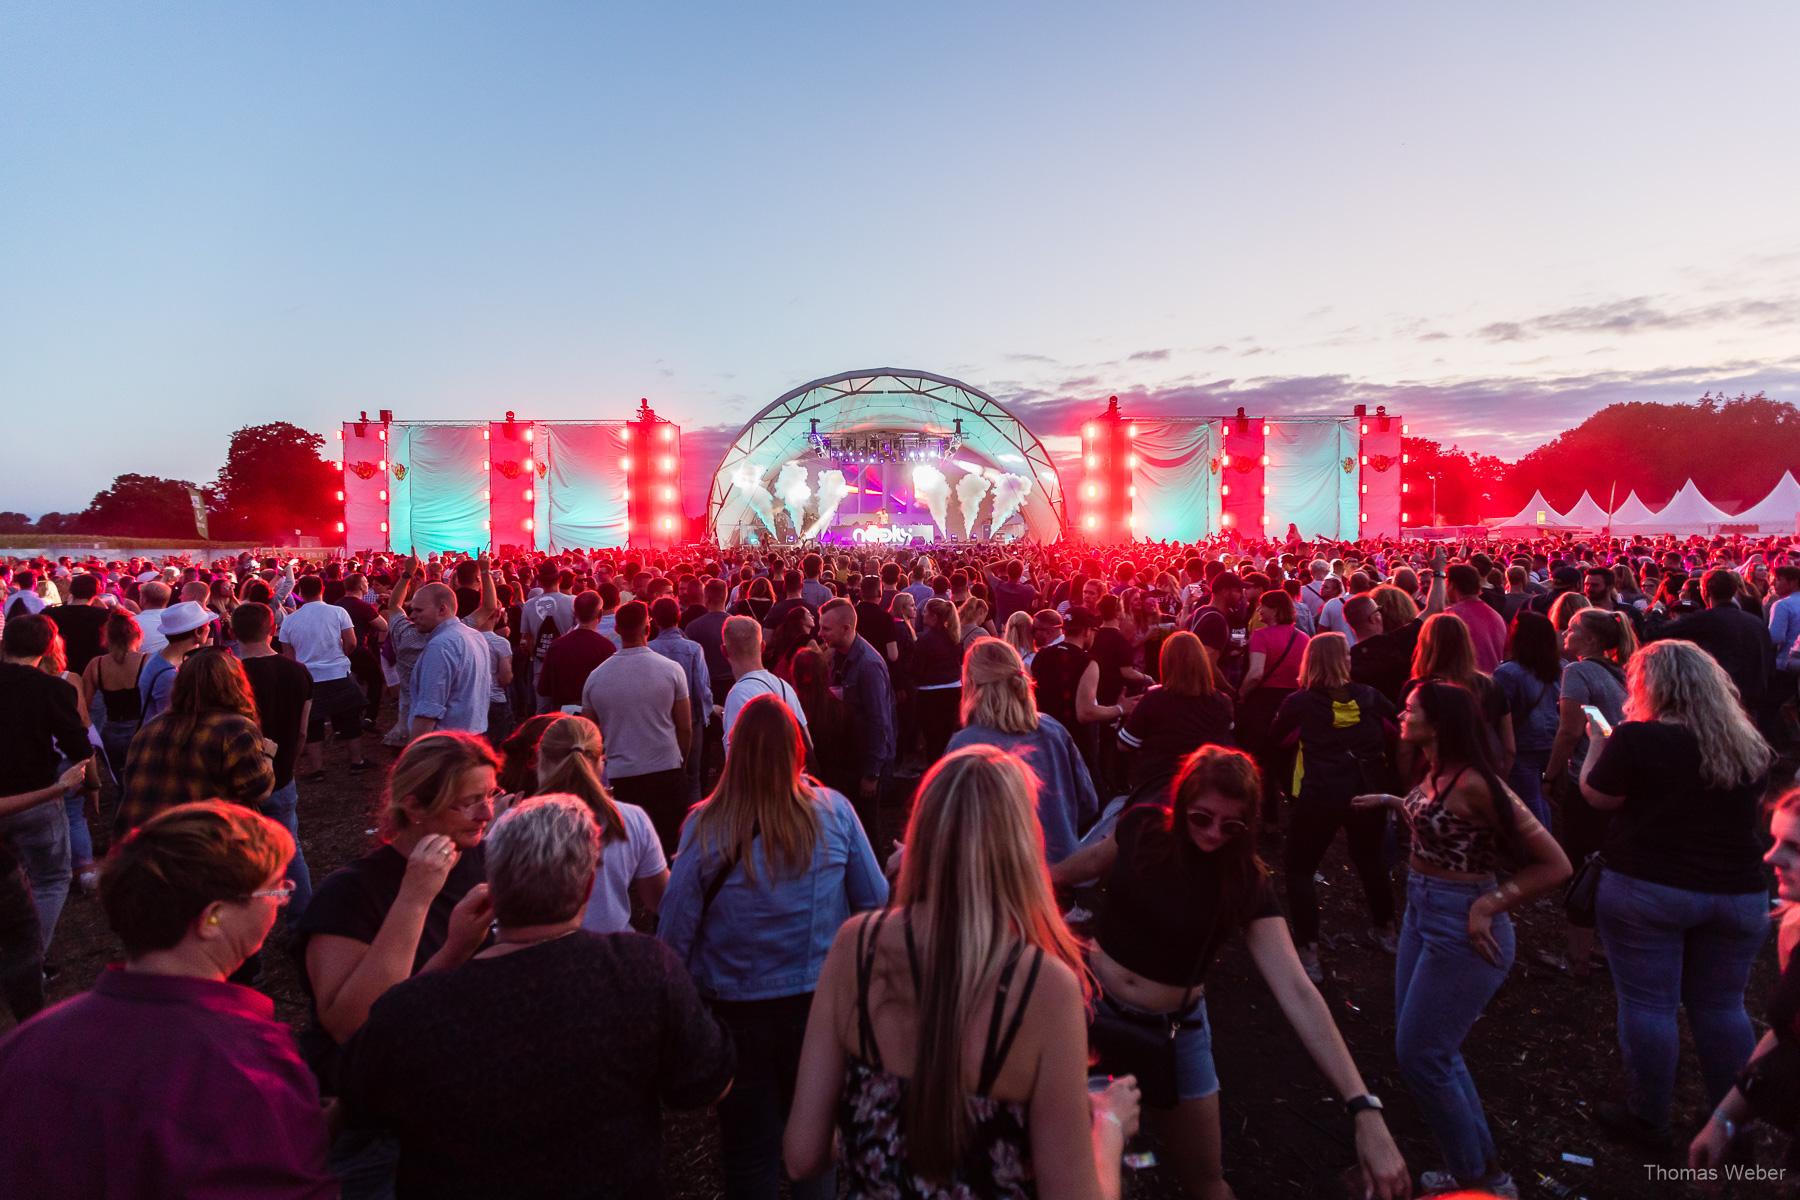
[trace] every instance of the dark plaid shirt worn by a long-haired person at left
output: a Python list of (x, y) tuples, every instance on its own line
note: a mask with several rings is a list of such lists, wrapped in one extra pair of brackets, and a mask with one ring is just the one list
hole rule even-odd
[(185, 720), (166, 712), (131, 738), (113, 829), (122, 835), (189, 801), (254, 806), (274, 786), (275, 763), (263, 754), (256, 721), (236, 712), (207, 712), (189, 729)]

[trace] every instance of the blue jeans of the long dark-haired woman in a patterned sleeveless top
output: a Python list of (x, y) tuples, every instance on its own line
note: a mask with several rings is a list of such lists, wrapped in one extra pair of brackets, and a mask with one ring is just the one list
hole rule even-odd
[(1463, 1186), (1499, 1171), (1463, 1038), (1512, 970), (1512, 921), (1494, 918), (1499, 966), (1469, 941), (1469, 907), (1492, 882), (1458, 883), (1417, 871), (1406, 882), (1400, 957), (1393, 968), (1395, 1052), (1444, 1164)]

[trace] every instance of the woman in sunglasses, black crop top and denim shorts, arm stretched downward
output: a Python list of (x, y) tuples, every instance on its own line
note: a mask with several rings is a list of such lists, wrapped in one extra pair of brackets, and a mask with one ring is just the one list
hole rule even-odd
[(1154, 1108), (1147, 1092), (1145, 1108), (1161, 1126), (1183, 1191), (1195, 1200), (1229, 1200), (1202, 984), (1226, 939), (1242, 930), (1256, 970), (1345, 1101), (1366, 1195), (1408, 1196), (1406, 1160), (1381, 1101), (1368, 1094), (1330, 1009), (1307, 979), (1256, 856), (1260, 797), (1262, 777), (1247, 754), (1202, 747), (1183, 763), (1166, 806), (1127, 810), (1112, 835), (1051, 869), (1058, 883), (1107, 880), (1089, 957), (1102, 1016), (1172, 1033), (1174, 1105)]

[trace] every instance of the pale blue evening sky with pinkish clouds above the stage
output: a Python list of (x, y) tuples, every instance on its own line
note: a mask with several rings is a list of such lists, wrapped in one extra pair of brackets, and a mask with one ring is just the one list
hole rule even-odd
[(1795, 45), (1789, 2), (0, 0), (0, 509), (639, 398), (704, 495), (862, 367), (1053, 446), (1109, 394), (1508, 459), (1800, 399)]

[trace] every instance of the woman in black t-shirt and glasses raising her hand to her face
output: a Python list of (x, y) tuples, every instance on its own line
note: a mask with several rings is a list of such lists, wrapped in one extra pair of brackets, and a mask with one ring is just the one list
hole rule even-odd
[[(394, 761), (380, 817), (382, 844), (338, 867), (313, 892), (290, 950), (313, 1020), (301, 1034), (326, 1092), (340, 1049), (389, 988), (419, 972), (468, 963), (488, 941), (481, 838), (493, 820), (499, 759), (477, 734), (432, 732)], [(392, 1195), (398, 1146), (347, 1132), (331, 1148), (344, 1196)]]

